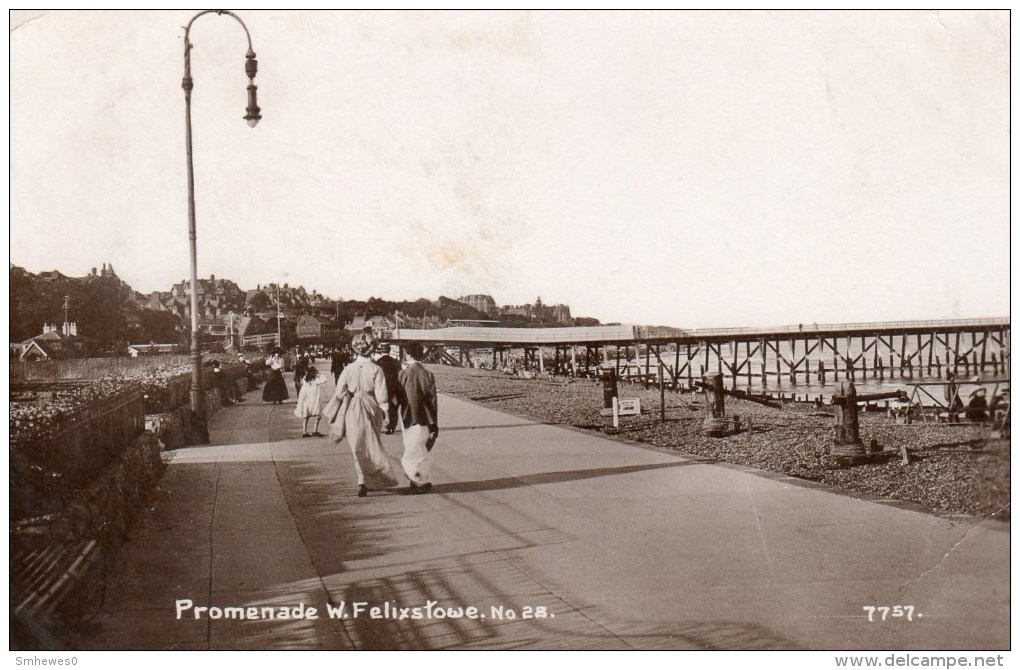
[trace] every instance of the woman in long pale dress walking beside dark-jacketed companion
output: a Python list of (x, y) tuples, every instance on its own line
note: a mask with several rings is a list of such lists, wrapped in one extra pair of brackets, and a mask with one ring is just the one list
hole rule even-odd
[(351, 446), (358, 473), (358, 498), (364, 498), (369, 491), (396, 486), (397, 475), (379, 435), (390, 402), (382, 368), (370, 358), (375, 339), (359, 332), (351, 346), (357, 358), (337, 380), (336, 396), (341, 401), (336, 418), (340, 423), (337, 437), (339, 441), (346, 436)]

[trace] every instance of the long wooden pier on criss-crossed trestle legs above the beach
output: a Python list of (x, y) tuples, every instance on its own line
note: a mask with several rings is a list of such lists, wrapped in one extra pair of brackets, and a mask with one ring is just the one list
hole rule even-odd
[[(460, 364), (492, 367), (520, 352), (525, 367), (557, 374), (613, 367), (623, 379), (653, 379), (661, 365), (670, 385), (693, 388), (721, 373), (732, 386), (769, 383), (946, 378), (1009, 373), (1010, 319), (803, 323), (772, 328), (682, 329), (634, 325), (399, 329), (391, 342), (421, 342), (457, 352)], [(550, 356), (551, 354), (551, 356)], [(472, 355), (475, 357), (472, 359)], [(489, 361), (484, 361), (489, 367)]]

